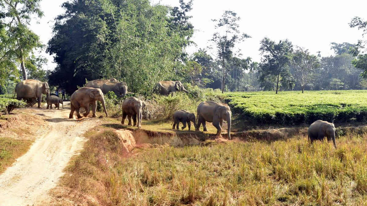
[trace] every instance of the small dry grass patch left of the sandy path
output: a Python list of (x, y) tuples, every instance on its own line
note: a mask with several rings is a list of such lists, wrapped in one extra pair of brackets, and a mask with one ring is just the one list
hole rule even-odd
[(32, 140), (0, 138), (0, 174), (25, 154), (32, 143)]

